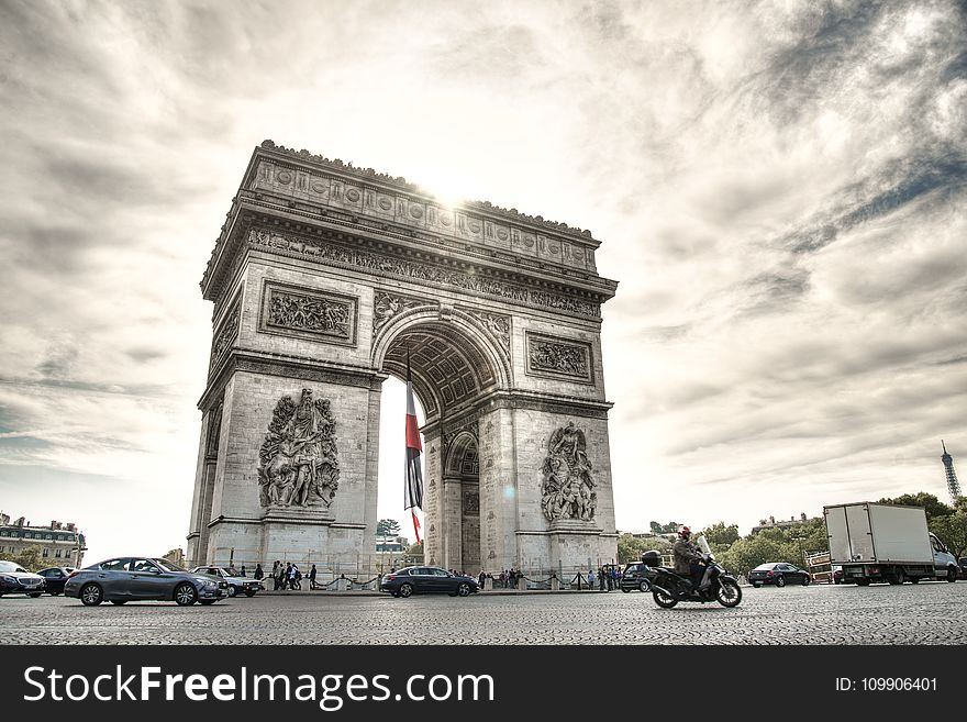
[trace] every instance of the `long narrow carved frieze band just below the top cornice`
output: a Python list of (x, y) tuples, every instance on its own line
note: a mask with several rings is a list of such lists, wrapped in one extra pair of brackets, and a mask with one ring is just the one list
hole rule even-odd
[(481, 275), (444, 266), (396, 258), (369, 251), (346, 248), (318, 238), (303, 238), (278, 231), (252, 229), (248, 232), (248, 242), (256, 246), (297, 253), (325, 264), (484, 293), (525, 306), (565, 311), (589, 319), (601, 316), (601, 307), (598, 303), (549, 291), (530, 290), (516, 284), (486, 278)]

